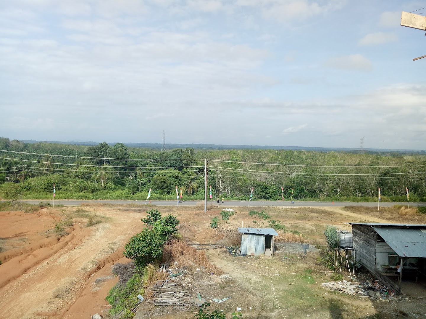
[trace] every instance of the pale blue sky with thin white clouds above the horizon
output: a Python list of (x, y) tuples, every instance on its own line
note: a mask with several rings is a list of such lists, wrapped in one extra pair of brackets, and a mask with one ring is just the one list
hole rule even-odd
[(424, 150), (423, 7), (1, 1), (0, 136)]

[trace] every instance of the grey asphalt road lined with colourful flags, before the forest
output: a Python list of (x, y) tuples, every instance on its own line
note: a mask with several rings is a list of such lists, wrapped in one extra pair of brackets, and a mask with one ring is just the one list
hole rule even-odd
[[(26, 202), (29, 204), (38, 204), (39, 202), (50, 202), (50, 205), (53, 205), (53, 200), (46, 200), (46, 199), (32, 199), (32, 200), (22, 200), (22, 202)], [(155, 206), (195, 206), (195, 205), (201, 205), (204, 206), (203, 204), (204, 201), (201, 200), (190, 200), (190, 201), (183, 201), (180, 202), (179, 204), (177, 204), (176, 201), (173, 200), (152, 200), (152, 201), (148, 201), (148, 203), (150, 203), (151, 205), (155, 205)], [(210, 202), (210, 201), (209, 201)], [(55, 200), (55, 204), (63, 204), (66, 206), (79, 206), (83, 203), (95, 203), (95, 204), (100, 204), (100, 203), (104, 203), (104, 204), (138, 204), (138, 205), (144, 205), (145, 201), (144, 200), (77, 200), (77, 199), (57, 199)], [(214, 201), (211, 201), (212, 204), (214, 204)], [(380, 206), (382, 207), (389, 207), (392, 205), (406, 205), (406, 202), (401, 202), (401, 203), (397, 203), (397, 202), (380, 202)], [(225, 207), (229, 207), (229, 206), (248, 206), (248, 200), (232, 200), (232, 201), (225, 201), (224, 203), (220, 202), (219, 204), (216, 202), (215, 205), (218, 205), (219, 207), (221, 206), (225, 206)], [(281, 201), (260, 201), (260, 200), (256, 200), (256, 201), (251, 201), (250, 202), (250, 207), (251, 206), (276, 206), (276, 207), (282, 207), (283, 204)], [(426, 205), (426, 203), (410, 203), (410, 206), (423, 206)], [(366, 206), (366, 207), (375, 207), (377, 206), (377, 202), (298, 202), (298, 201), (294, 201), (294, 204), (292, 204), (291, 202), (284, 202), (284, 207), (302, 207), (302, 206), (311, 206), (311, 207), (331, 207), (331, 206), (336, 206), (336, 207), (343, 207), (343, 206)]]

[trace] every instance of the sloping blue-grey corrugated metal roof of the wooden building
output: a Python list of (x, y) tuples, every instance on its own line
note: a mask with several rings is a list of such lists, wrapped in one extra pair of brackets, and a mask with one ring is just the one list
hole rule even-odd
[[(423, 225), (426, 227), (426, 225)], [(426, 233), (419, 228), (373, 227), (401, 257), (426, 258)]]

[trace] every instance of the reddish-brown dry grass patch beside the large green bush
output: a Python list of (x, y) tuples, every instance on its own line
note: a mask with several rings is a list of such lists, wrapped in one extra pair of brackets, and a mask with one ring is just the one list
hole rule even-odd
[(180, 266), (187, 267), (199, 265), (214, 273), (221, 272), (219, 268), (208, 261), (205, 251), (197, 251), (178, 239), (173, 239), (164, 245), (163, 262), (167, 264), (178, 262)]

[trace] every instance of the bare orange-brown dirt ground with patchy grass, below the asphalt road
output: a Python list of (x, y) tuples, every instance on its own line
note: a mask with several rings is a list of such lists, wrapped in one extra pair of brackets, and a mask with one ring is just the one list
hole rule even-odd
[[(0, 265), (0, 318), (90, 318), (94, 313), (108, 316), (105, 296), (118, 281), (111, 274), (111, 266), (129, 261), (121, 252), (127, 240), (143, 227), (140, 219), (146, 215), (146, 209), (83, 208), (89, 212), (96, 209), (102, 222), (86, 227), (87, 219), (75, 214), (75, 207), (44, 208), (33, 214), (0, 212), (0, 260), (3, 262)], [(178, 216), (179, 231), (187, 242), (217, 241), (210, 222), (220, 210), (204, 213), (201, 207), (158, 209), (162, 214)], [(248, 208), (235, 209), (231, 225), (250, 226), (252, 218), (248, 216)], [(397, 216), (393, 211), (382, 216), (364, 209), (358, 213), (355, 208), (334, 207), (284, 210), (266, 207), (265, 210), (289, 229), (300, 231), (311, 244), (324, 244), (322, 232), (326, 225), (350, 230), (351, 226), (345, 222), (392, 222)], [(63, 226), (62, 232), (55, 232), (57, 223), (70, 216), (72, 226)], [(406, 222), (410, 222), (410, 218), (416, 223), (419, 221), (418, 216), (404, 217)], [(217, 249), (207, 251), (207, 255), (226, 276), (212, 275), (201, 269), (193, 274), (196, 280), (193, 288), (210, 299), (232, 297), (221, 304), (212, 304), (212, 308), (231, 313), (241, 307), (243, 318), (282, 318), (282, 314), (285, 318), (426, 318), (422, 299), (403, 296), (389, 302), (329, 293), (320, 287), (328, 278), (326, 269), (316, 264), (314, 253), (305, 257), (278, 251), (274, 258), (235, 258), (225, 249)], [(271, 276), (276, 272), (278, 274), (272, 277), (274, 295)], [(136, 318), (190, 318), (198, 311), (195, 307), (160, 308), (141, 307)]]

